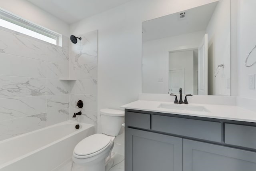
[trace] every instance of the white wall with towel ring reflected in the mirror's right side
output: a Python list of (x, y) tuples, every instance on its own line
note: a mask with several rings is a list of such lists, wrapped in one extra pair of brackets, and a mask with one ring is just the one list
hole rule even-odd
[[(208, 34), (208, 94), (230, 95), (230, 1), (216, 6), (206, 28)], [(214, 77), (218, 65), (225, 67)]]

